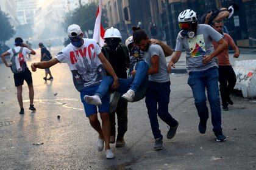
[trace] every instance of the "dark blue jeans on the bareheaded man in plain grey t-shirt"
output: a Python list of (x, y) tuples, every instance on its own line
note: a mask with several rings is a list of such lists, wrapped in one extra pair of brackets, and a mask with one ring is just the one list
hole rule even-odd
[(163, 135), (159, 129), (157, 115), (170, 127), (177, 126), (177, 121), (172, 118), (168, 111), (169, 95), (171, 93), (170, 85), (170, 81), (165, 83), (148, 81), (148, 89), (145, 102), (148, 108), (151, 129), (155, 139), (163, 138)]

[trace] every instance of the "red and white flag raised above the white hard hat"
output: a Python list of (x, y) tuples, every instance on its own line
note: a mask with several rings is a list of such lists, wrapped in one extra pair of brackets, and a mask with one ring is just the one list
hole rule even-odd
[(101, 24), (101, 14), (102, 14), (102, 0), (99, 0), (99, 7), (96, 13), (96, 21), (94, 25), (94, 31), (93, 31), (93, 39), (95, 39), (99, 46), (104, 46), (104, 34), (105, 30)]

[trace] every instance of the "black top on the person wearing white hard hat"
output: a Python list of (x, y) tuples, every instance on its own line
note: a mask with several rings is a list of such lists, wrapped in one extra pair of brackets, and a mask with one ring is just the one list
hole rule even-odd
[[(107, 60), (115, 70), (117, 77), (127, 78), (126, 67), (129, 56), (126, 56), (123, 48), (119, 45), (115, 51), (110, 51), (108, 47), (104, 46), (102, 47), (102, 53), (106, 56)], [(106, 53), (108, 53), (108, 55)]]

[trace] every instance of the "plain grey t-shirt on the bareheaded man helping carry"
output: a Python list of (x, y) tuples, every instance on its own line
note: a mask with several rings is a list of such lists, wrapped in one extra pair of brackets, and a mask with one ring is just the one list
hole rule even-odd
[(161, 46), (157, 44), (151, 44), (148, 51), (144, 53), (144, 57), (148, 61), (149, 67), (151, 67), (151, 58), (152, 56), (159, 56), (159, 69), (158, 73), (149, 75), (149, 81), (155, 81), (158, 83), (165, 83), (170, 81), (169, 72), (166, 66), (165, 53)]

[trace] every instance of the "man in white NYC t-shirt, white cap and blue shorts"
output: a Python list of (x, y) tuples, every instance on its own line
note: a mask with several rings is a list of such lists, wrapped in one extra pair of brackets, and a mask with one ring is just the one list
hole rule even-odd
[(94, 39), (83, 38), (84, 33), (79, 25), (73, 24), (68, 27), (68, 36), (71, 43), (61, 50), (55, 58), (49, 61), (42, 61), (40, 63), (32, 63), (32, 70), (46, 69), (54, 66), (57, 63), (67, 63), (73, 75), (73, 82), (76, 89), (80, 92), (80, 98), (84, 104), (85, 114), (90, 120), (91, 126), (98, 132), (99, 138), (97, 141), (98, 151), (102, 151), (105, 142), (105, 154), (107, 158), (114, 158), (115, 155), (110, 150), (110, 121), (108, 117), (109, 112), (109, 98), (106, 96), (102, 99), (102, 105), (98, 107), (102, 128), (97, 117), (97, 108), (92, 104), (84, 101), (85, 95), (94, 95), (105, 75), (105, 70), (114, 78), (112, 85), (116, 89), (118, 84), (118, 77), (107, 59), (101, 52), (101, 47)]

